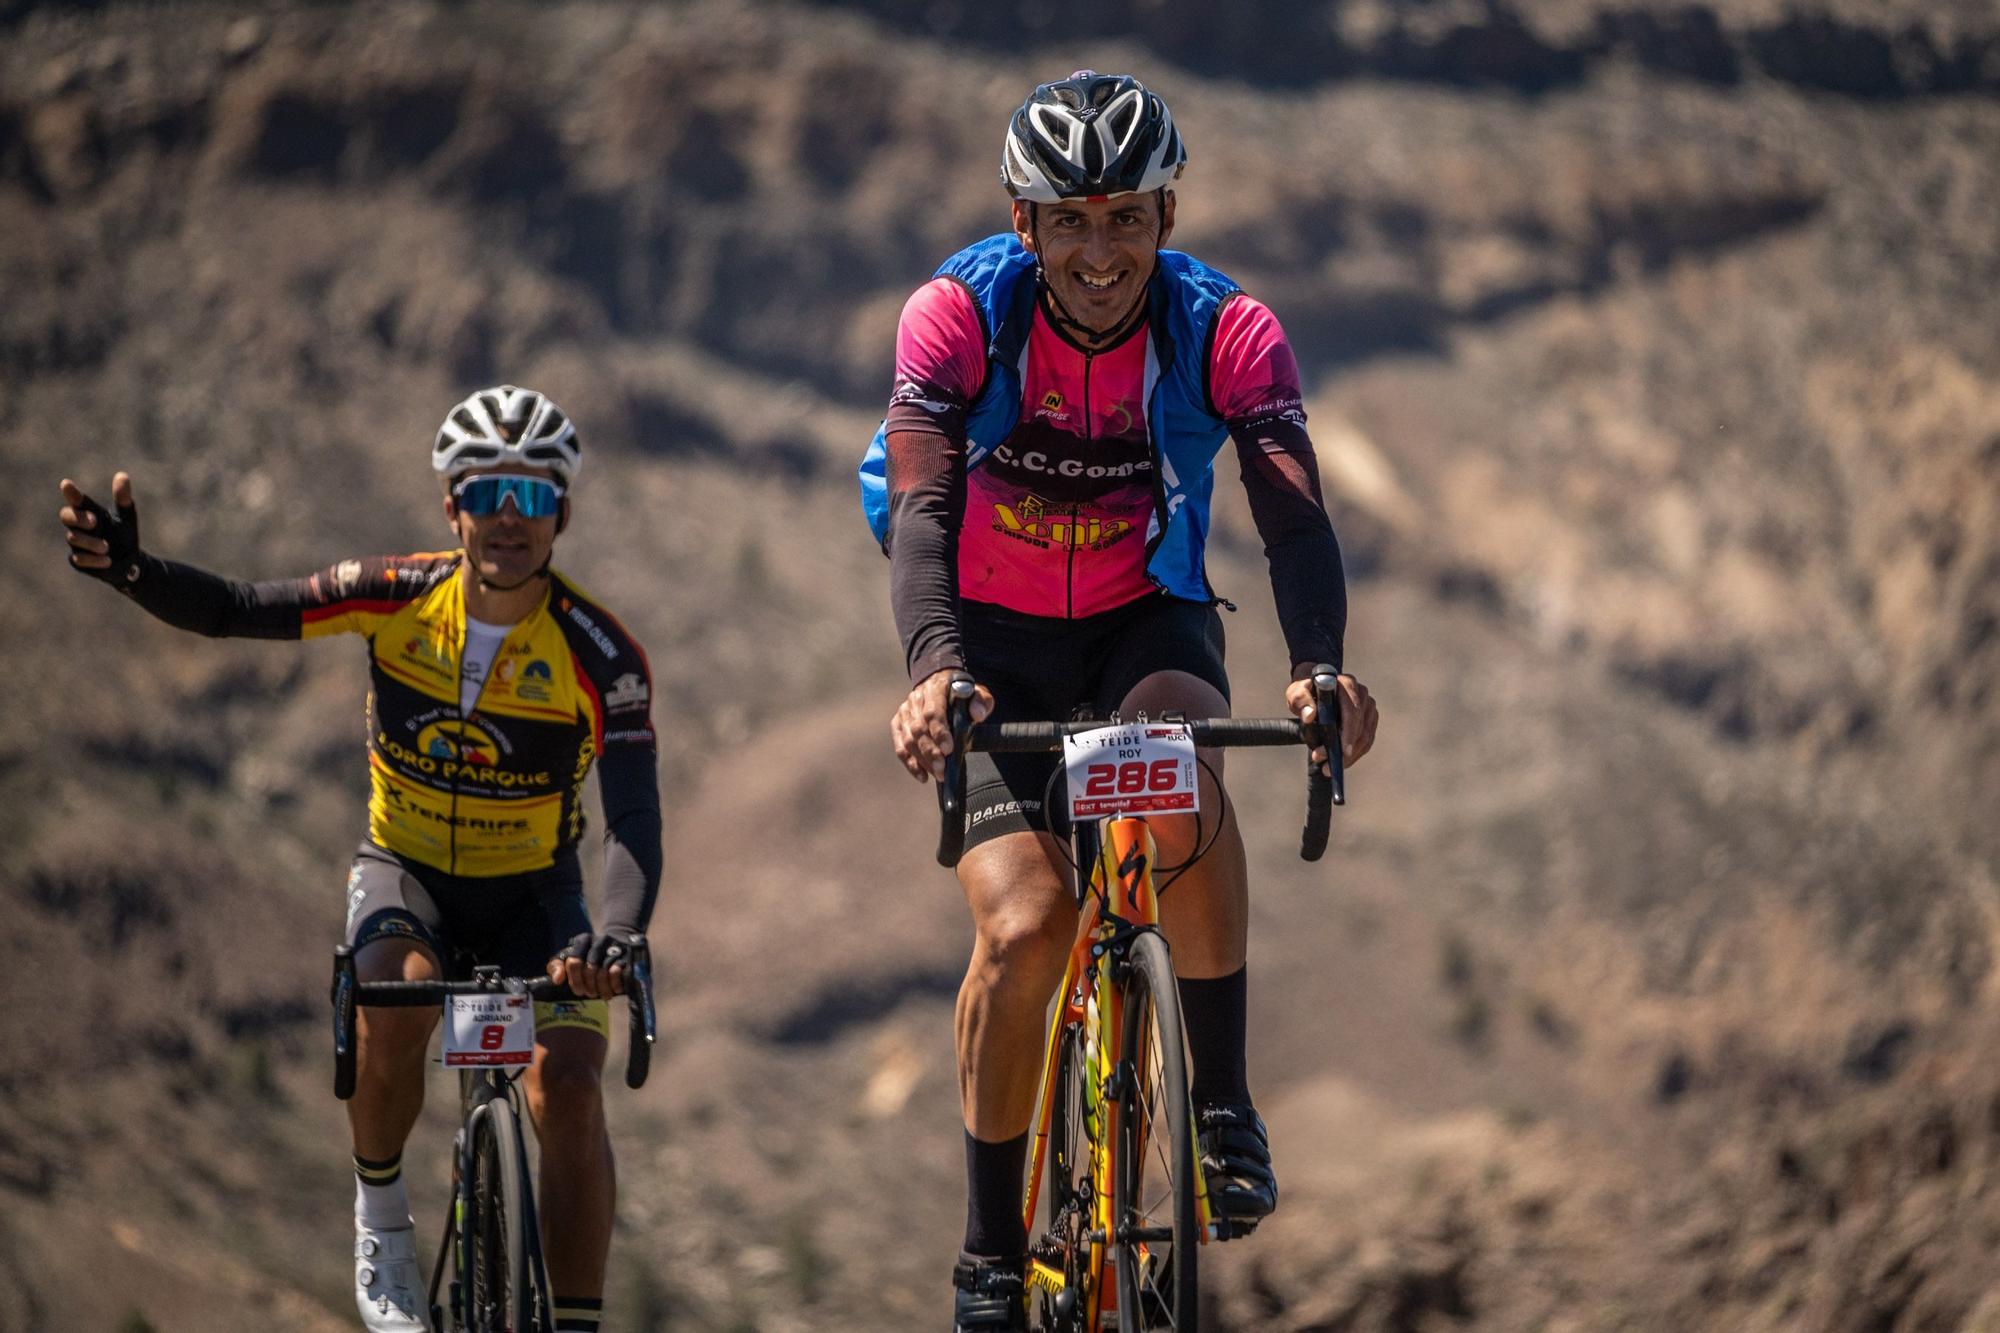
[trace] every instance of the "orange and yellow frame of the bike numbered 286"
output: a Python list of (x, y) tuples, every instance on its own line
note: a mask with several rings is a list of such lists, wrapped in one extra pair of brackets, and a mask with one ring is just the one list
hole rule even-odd
[[(1082, 831), (1078, 831), (1082, 843)], [(1152, 831), (1142, 815), (1104, 819), (1096, 825), (1098, 855), (1088, 879), (1082, 877), (1078, 859), (1078, 881), (1082, 889), (1082, 919), (1076, 929), (1076, 943), (1070, 947), (1070, 961), (1062, 973), (1056, 1019), (1048, 1025), (1048, 1043), (1042, 1053), (1042, 1095), (1036, 1105), (1034, 1139), (1028, 1161), (1028, 1189), (1022, 1205), (1022, 1219), (1030, 1235), (1034, 1215), (1042, 1201), (1042, 1175), (1048, 1163), (1048, 1135), (1056, 1113), (1056, 1063), (1062, 1059), (1062, 1035), (1072, 1023), (1088, 1027), (1094, 1039), (1096, 1057), (1086, 1061), (1084, 1105), (1096, 1107), (1098, 1121), (1090, 1135), (1090, 1263), (1086, 1267), (1084, 1327), (1096, 1329), (1104, 1313), (1116, 1309), (1116, 1285), (1104, 1281), (1104, 1257), (1118, 1225), (1112, 1199), (1112, 1145), (1122, 1129), (1122, 1099), (1106, 1095), (1114, 1073), (1126, 1059), (1124, 1047), (1124, 991), (1116, 985), (1116, 973), (1124, 965), (1130, 941), (1140, 931), (1160, 929), (1160, 899), (1152, 883), (1152, 869), (1158, 861)], [(1090, 1051), (1092, 1047), (1086, 1047)], [(1194, 1173), (1194, 1201), (1200, 1217), (1200, 1241), (1208, 1243), (1214, 1219), (1208, 1207), (1208, 1181), (1202, 1171)], [(1028, 1259), (1028, 1285), (1050, 1295), (1060, 1295), (1068, 1277), (1054, 1273)]]

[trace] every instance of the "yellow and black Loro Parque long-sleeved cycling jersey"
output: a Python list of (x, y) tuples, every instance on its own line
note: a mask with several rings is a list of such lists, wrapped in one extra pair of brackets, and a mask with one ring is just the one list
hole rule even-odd
[[(446, 875), (550, 867), (584, 833), (584, 777), (602, 759), (614, 837), (630, 817), (652, 847), (642, 855), (652, 861), (642, 925), (658, 883), (660, 809), (646, 654), (608, 610), (550, 572), (548, 598), (508, 628), (472, 711), (460, 713), (462, 558), (370, 556), (246, 584), (148, 556), (128, 590), (160, 618), (206, 634), (362, 634), (374, 685), (368, 837)], [(646, 821), (650, 839), (638, 829)]]

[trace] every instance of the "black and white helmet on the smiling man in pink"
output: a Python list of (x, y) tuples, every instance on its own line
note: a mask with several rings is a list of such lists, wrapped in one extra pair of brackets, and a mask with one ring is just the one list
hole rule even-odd
[(1142, 194), (1180, 176), (1188, 150), (1166, 102), (1130, 74), (1078, 70), (1014, 112), (1000, 152), (1008, 194), (1036, 204)]

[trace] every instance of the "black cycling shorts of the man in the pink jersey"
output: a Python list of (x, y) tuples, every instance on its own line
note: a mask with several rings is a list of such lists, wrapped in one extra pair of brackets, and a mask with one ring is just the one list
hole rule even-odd
[[(1176, 596), (1142, 596), (1082, 620), (1030, 616), (990, 602), (962, 602), (958, 632), (966, 671), (994, 693), (988, 723), (1062, 723), (1110, 717), (1156, 671), (1184, 671), (1230, 697), (1222, 669), (1222, 616)], [(1068, 801), (1050, 779), (1062, 755), (966, 759), (966, 847), (1028, 829), (1066, 837)], [(1056, 803), (1054, 823), (1042, 803)]]

